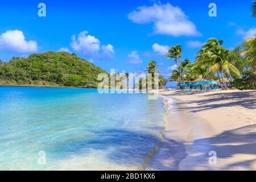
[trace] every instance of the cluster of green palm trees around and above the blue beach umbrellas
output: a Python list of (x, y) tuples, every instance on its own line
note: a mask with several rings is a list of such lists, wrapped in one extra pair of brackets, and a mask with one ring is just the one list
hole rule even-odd
[[(256, 37), (248, 38), (243, 42), (237, 55), (236, 51), (229, 51), (222, 47), (223, 40), (211, 38), (204, 44), (196, 55), (194, 64), (188, 59), (181, 61), (181, 46), (175, 45), (168, 49), (165, 57), (174, 59), (177, 69), (172, 73), (170, 80), (176, 81), (177, 84), (190, 82), (193, 80), (216, 80), (226, 88), (225, 80), (233, 81), (234, 78), (240, 78), (243, 70), (249, 69), (256, 71)], [(237, 49), (236, 49), (237, 50)], [(247, 60), (247, 64), (240, 70), (236, 63), (240, 59)], [(177, 61), (179, 60), (179, 64)]]

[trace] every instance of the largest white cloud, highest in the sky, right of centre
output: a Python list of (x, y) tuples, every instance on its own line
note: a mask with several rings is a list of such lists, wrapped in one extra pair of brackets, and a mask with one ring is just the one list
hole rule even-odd
[(154, 23), (154, 33), (172, 36), (199, 36), (201, 35), (195, 24), (179, 7), (170, 3), (166, 5), (141, 6), (128, 14), (134, 23)]

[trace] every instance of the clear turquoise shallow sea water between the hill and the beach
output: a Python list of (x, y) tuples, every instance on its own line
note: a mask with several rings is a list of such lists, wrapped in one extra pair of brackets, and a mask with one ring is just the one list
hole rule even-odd
[(0, 86), (0, 170), (143, 169), (165, 112), (147, 94)]

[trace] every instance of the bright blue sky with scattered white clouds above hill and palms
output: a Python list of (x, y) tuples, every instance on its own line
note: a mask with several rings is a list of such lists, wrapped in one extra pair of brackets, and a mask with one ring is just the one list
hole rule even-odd
[[(46, 17), (38, 16), (40, 2)], [(217, 17), (208, 15), (211, 2)], [(230, 49), (255, 34), (250, 6), (251, 1), (220, 0), (1, 1), (0, 59), (65, 48), (108, 72), (142, 72), (154, 59), (168, 76), (174, 61), (162, 53), (169, 46), (181, 44), (183, 59), (193, 62), (209, 38), (224, 39)]]

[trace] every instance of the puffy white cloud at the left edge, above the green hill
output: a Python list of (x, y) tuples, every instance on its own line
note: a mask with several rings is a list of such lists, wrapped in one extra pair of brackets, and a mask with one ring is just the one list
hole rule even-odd
[(10, 53), (31, 53), (38, 51), (38, 43), (25, 40), (20, 30), (8, 30), (0, 35), (0, 51)]

